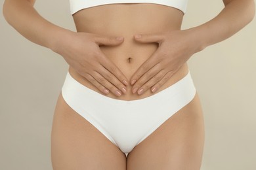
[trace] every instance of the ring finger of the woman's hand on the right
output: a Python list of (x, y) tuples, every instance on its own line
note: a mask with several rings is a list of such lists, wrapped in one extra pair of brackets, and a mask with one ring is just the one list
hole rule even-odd
[(152, 88), (152, 86), (160, 82), (160, 80), (162, 80), (165, 75), (166, 75), (165, 70), (161, 70), (160, 72), (158, 72), (158, 74), (153, 76), (150, 80), (148, 80), (148, 82), (146, 82), (141, 86), (141, 88), (139, 88), (138, 94), (141, 95), (142, 93), (146, 92), (148, 89)]

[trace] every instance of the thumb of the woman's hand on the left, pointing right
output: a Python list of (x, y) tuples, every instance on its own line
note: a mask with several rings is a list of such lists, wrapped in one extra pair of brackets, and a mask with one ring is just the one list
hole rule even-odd
[(123, 42), (123, 37), (108, 37), (102, 35), (95, 36), (96, 44), (100, 45), (107, 45), (107, 46), (116, 46)]

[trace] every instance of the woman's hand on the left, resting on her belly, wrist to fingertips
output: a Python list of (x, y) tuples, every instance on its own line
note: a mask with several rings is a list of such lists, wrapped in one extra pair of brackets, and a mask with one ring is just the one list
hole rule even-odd
[(123, 42), (117, 37), (93, 33), (66, 31), (54, 45), (53, 51), (63, 56), (66, 62), (85, 77), (101, 92), (120, 96), (126, 93), (128, 80), (100, 50), (101, 45), (117, 46)]

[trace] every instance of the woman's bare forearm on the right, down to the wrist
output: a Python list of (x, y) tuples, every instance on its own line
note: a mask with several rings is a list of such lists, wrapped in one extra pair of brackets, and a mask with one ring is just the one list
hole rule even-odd
[(253, 0), (234, 0), (226, 3), (215, 18), (198, 27), (193, 27), (194, 37), (200, 49), (221, 42), (234, 35), (253, 19), (255, 4)]

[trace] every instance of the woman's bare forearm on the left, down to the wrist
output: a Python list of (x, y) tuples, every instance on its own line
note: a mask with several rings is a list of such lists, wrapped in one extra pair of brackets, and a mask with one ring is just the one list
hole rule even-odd
[(26, 39), (47, 48), (53, 49), (58, 37), (68, 31), (41, 17), (33, 8), (33, 1), (6, 0), (3, 14), (7, 22)]

